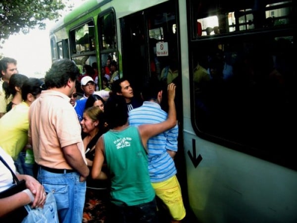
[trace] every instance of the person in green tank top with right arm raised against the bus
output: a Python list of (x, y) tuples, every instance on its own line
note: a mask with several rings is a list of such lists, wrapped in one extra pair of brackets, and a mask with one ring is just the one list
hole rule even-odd
[[(175, 85), (172, 83), (168, 85), (168, 118), (161, 123), (138, 127), (129, 126), (126, 101), (122, 96), (112, 95), (105, 104), (104, 114), (111, 130), (96, 143), (92, 178), (107, 179), (102, 171), (106, 161), (111, 181), (112, 222), (157, 222), (146, 148), (150, 137), (176, 125), (174, 97)], [(138, 159), (131, 159), (136, 154)]]

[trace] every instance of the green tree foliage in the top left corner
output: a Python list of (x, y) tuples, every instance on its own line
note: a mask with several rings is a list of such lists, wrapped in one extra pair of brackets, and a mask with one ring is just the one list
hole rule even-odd
[(71, 0), (0, 0), (0, 47), (10, 35), (45, 29), (45, 20), (56, 20)]

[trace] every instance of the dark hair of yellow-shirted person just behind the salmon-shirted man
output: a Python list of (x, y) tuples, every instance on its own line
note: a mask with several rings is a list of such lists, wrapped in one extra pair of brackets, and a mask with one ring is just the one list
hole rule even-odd
[(25, 81), (22, 87), (22, 99), (27, 100), (27, 95), (32, 94), (37, 96), (41, 93), (42, 90), (45, 90), (44, 82), (38, 78), (30, 77)]

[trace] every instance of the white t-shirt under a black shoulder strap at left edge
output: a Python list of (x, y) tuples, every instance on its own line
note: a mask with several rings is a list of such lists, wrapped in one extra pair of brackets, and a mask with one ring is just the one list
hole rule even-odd
[[(0, 156), (15, 173), (15, 166), (12, 158), (0, 147)], [(0, 192), (12, 186), (13, 177), (10, 170), (0, 161)]]

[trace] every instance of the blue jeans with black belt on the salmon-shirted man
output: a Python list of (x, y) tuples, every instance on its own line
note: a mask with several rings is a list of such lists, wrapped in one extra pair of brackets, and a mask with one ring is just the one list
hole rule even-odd
[(82, 223), (86, 181), (80, 182), (78, 172), (52, 173), (38, 168), (37, 178), (56, 200), (60, 223)]

